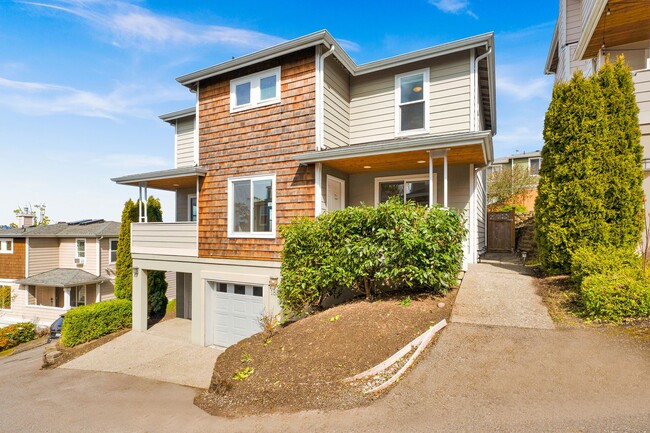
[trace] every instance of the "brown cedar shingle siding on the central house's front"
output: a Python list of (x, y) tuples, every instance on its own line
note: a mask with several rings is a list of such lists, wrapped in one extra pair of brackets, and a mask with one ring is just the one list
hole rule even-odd
[[(199, 149), (208, 173), (200, 188), (199, 256), (279, 260), (282, 239), (227, 234), (228, 178), (276, 175), (276, 230), (297, 216), (314, 216), (314, 167), (295, 154), (315, 149), (315, 52), (292, 53), (201, 82)], [(280, 65), (281, 102), (230, 113), (230, 80)]]

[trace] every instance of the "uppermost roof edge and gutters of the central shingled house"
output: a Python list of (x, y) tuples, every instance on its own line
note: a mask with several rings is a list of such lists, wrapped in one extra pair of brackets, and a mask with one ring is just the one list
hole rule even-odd
[[(357, 65), (327, 30), (320, 30), (318, 32), (311, 33), (297, 39), (283, 42), (281, 44), (274, 45), (272, 47), (256, 51), (251, 54), (247, 54), (214, 66), (210, 66), (205, 69), (201, 69), (196, 72), (192, 72), (190, 74), (183, 75), (181, 77), (178, 77), (176, 81), (190, 89), (193, 89), (196, 83), (201, 80), (212, 78), (225, 74), (227, 72), (263, 62), (265, 60), (271, 60), (276, 57), (318, 45), (324, 45), (327, 49), (333, 49), (332, 54), (341, 62), (343, 67), (345, 67), (352, 76), (369, 74), (372, 72), (377, 72), (384, 69), (417, 62), (420, 60), (444, 56), (459, 51), (465, 51), (472, 48), (485, 48), (491, 55), (487, 56), (488, 76), (485, 80), (485, 83), (481, 83), (481, 85), (485, 84), (487, 87), (486, 92), (489, 100), (486, 103), (489, 108), (489, 120), (492, 132), (496, 134), (496, 81), (494, 67), (494, 33), (492, 32)], [(170, 113), (170, 115), (172, 114), (174, 113)], [(163, 120), (168, 121), (167, 119)]]

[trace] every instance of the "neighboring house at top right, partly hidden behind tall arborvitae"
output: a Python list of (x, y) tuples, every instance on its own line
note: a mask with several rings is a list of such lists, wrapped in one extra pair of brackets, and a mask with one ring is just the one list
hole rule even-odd
[(560, 0), (545, 72), (556, 81), (590, 75), (620, 54), (632, 69), (643, 145), (643, 190), (650, 197), (650, 2)]

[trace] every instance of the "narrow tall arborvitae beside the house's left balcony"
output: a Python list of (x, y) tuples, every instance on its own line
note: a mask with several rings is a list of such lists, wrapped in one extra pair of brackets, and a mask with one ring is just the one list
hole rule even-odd
[(122, 224), (115, 260), (115, 297), (131, 300), (133, 291), (133, 259), (131, 258), (131, 223), (138, 220), (138, 207), (133, 200), (124, 203)]

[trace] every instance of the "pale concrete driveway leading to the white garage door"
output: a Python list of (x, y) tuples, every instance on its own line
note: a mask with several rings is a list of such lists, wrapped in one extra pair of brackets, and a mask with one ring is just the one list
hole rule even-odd
[(223, 349), (190, 343), (192, 322), (171, 319), (146, 332), (130, 331), (59, 368), (122, 373), (207, 388)]

